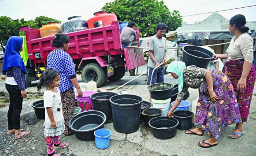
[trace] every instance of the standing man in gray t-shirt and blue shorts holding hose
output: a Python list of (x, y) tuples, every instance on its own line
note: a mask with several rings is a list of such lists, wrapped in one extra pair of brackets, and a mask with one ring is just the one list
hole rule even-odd
[[(148, 81), (147, 85), (154, 84), (154, 83), (163, 83), (164, 82), (164, 65), (165, 65), (165, 56), (166, 56), (166, 38), (163, 37), (166, 30), (165, 23), (159, 23), (156, 28), (157, 34), (154, 35), (149, 43), (148, 43)], [(162, 63), (162, 66), (160, 64)], [(154, 73), (153, 69), (155, 67)], [(153, 76), (152, 76), (153, 75)], [(151, 80), (152, 77), (152, 80)], [(151, 97), (150, 97), (151, 102)]]

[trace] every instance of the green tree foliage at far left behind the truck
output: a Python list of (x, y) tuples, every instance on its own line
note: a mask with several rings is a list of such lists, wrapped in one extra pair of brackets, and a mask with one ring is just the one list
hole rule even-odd
[(20, 27), (29, 25), (30, 28), (41, 28), (42, 25), (46, 24), (49, 21), (58, 21), (46, 16), (36, 17), (35, 20), (25, 21), (22, 19), (11, 19), (7, 16), (0, 16), (0, 47), (5, 50), (4, 46), (7, 43), (7, 40), (11, 36), (22, 36), (25, 35), (25, 32), (19, 31)]

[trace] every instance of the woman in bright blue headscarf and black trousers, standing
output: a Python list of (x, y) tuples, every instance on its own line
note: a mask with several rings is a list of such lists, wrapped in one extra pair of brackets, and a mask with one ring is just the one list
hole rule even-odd
[(25, 74), (27, 73), (24, 62), (19, 51), (23, 50), (22, 37), (12, 36), (8, 39), (3, 61), (3, 74), (7, 75), (5, 88), (10, 96), (8, 110), (8, 132), (14, 134), (15, 139), (22, 138), (30, 134), (20, 129), (20, 113), (22, 110), (23, 98), (26, 98)]

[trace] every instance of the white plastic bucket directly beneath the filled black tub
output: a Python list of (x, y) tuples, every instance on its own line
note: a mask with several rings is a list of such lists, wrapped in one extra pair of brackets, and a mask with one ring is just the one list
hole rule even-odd
[[(165, 99), (165, 100), (152, 99), (152, 102), (153, 102), (153, 108), (161, 109), (163, 111), (162, 116), (167, 115), (168, 111), (170, 110), (171, 98)], [(166, 113), (166, 111), (167, 111), (167, 113)]]

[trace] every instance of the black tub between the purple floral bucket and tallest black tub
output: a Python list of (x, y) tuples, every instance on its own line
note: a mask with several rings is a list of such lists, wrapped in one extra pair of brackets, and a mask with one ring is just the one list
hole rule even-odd
[(112, 122), (112, 109), (109, 99), (115, 95), (117, 94), (113, 92), (99, 92), (90, 96), (93, 100), (94, 110), (102, 111), (106, 115), (106, 123)]

